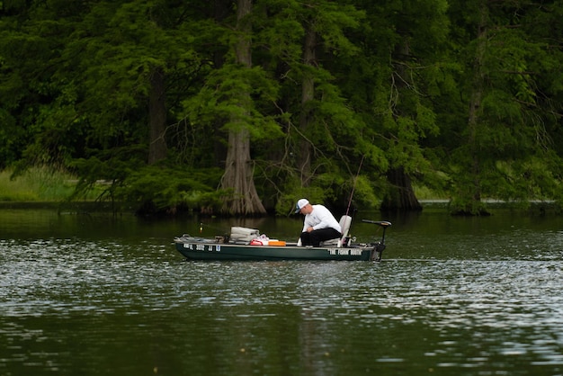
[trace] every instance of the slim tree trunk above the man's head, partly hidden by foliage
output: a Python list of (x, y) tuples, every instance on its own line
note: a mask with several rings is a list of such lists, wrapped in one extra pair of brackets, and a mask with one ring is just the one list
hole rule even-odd
[[(308, 29), (303, 46), (303, 64), (313, 67), (317, 64), (315, 49), (317, 47), (317, 33), (311, 28)], [(302, 134), (307, 134), (308, 124), (311, 121), (311, 103), (315, 98), (315, 78), (307, 73), (303, 76), (301, 90), (301, 116), (299, 118), (299, 130)], [(311, 178), (311, 145), (308, 139), (301, 139), (299, 147), (299, 170), (301, 171), (301, 185), (307, 186)]]

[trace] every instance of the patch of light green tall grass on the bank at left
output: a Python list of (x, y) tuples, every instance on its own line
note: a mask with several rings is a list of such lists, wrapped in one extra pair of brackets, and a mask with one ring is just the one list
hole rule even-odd
[(11, 175), (0, 172), (0, 201), (64, 201), (76, 184), (75, 176), (48, 167), (33, 167), (15, 179)]

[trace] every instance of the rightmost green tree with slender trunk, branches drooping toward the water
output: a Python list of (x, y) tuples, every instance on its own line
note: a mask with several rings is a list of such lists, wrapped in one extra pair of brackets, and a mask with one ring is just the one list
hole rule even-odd
[(544, 114), (559, 109), (542, 98), (551, 90), (538, 90), (553, 50), (532, 26), (550, 9), (504, 1), (455, 2), (452, 8), (462, 17), (456, 24), (465, 26), (453, 35), (464, 46), (460, 89), (469, 109), (449, 165), (454, 212), (485, 214), (484, 198), (527, 201), (555, 193), (559, 163), (546, 168), (541, 161), (559, 160), (546, 127), (557, 119)]

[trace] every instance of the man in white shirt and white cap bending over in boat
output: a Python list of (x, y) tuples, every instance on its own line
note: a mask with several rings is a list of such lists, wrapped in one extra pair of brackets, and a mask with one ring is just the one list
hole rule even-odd
[(311, 205), (307, 199), (300, 199), (295, 205), (295, 213), (305, 215), (300, 237), (302, 246), (320, 246), (323, 240), (342, 236), (340, 224), (323, 205)]

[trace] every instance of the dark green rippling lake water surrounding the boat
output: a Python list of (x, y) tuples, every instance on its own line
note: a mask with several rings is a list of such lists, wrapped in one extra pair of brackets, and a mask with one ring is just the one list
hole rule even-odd
[(389, 219), (371, 262), (185, 262), (174, 236), (301, 219), (0, 210), (0, 375), (563, 375), (563, 219)]

